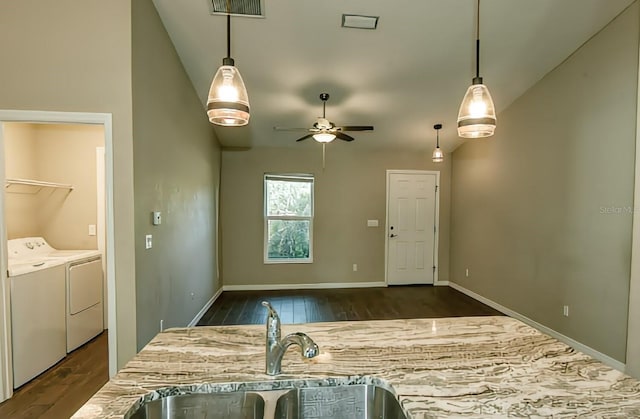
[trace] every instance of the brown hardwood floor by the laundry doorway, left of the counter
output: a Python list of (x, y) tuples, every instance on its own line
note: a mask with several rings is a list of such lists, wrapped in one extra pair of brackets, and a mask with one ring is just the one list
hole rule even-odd
[(15, 390), (0, 403), (0, 418), (71, 417), (109, 380), (107, 341), (105, 331)]

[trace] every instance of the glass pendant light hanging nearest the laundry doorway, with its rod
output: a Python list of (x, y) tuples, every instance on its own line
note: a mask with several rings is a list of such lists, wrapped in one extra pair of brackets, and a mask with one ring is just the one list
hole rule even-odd
[(207, 115), (209, 121), (225, 127), (249, 123), (249, 96), (242, 76), (231, 58), (231, 0), (227, 1), (227, 56), (211, 82)]

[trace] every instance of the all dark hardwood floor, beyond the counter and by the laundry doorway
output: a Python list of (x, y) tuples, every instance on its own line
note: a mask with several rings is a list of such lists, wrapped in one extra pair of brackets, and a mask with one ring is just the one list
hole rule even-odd
[[(382, 320), (502, 313), (450, 287), (224, 292), (198, 326), (263, 324), (268, 300), (283, 323)], [(109, 379), (107, 332), (14, 392), (0, 418), (69, 418)]]

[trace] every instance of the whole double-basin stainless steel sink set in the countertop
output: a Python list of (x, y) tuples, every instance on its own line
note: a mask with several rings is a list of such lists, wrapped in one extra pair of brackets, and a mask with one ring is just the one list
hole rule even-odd
[(396, 396), (374, 384), (311, 380), (264, 390), (265, 385), (269, 384), (245, 383), (238, 391), (214, 390), (141, 400), (125, 418), (408, 419)]

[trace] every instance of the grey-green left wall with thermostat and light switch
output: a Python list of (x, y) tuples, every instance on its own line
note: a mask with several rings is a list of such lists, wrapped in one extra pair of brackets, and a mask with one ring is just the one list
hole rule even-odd
[[(152, 1), (131, 3), (140, 349), (161, 320), (165, 328), (185, 326), (220, 288), (220, 147)], [(152, 211), (162, 213), (161, 225), (152, 225)]]

